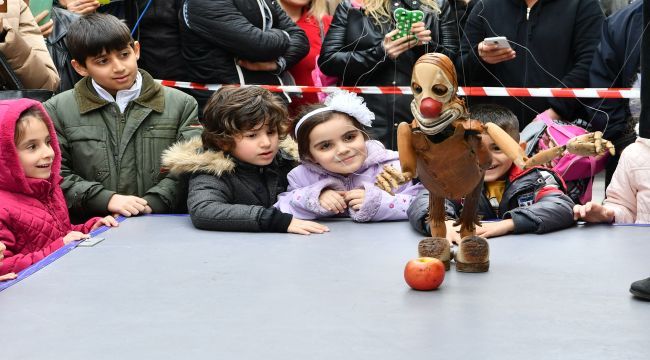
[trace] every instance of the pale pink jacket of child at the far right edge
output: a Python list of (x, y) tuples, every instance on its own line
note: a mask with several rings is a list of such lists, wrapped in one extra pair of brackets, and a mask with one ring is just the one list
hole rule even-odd
[(625, 148), (606, 195), (615, 223), (650, 224), (650, 139)]

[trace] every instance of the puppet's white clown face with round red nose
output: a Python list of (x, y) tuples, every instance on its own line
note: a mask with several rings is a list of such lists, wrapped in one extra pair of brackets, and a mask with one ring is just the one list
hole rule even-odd
[(411, 89), (414, 97), (411, 110), (424, 132), (445, 121), (441, 114), (454, 98), (456, 87), (440, 67), (429, 63), (415, 65)]

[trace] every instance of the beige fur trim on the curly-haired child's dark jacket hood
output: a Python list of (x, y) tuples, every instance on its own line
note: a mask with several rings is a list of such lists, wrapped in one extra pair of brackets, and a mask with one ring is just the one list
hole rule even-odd
[[(290, 137), (280, 142), (277, 156), (298, 161), (298, 144)], [(172, 174), (208, 173), (221, 176), (233, 172), (237, 161), (223, 151), (204, 150), (201, 137), (172, 145), (162, 154), (162, 166)]]

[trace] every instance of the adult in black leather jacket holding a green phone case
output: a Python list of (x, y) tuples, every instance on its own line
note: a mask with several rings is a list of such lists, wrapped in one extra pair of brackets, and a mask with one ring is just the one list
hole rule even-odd
[[(440, 4), (440, 5), (439, 5)], [(423, 21), (412, 24), (410, 34), (399, 33), (395, 10), (419, 10)], [(415, 61), (425, 52), (450, 58), (458, 51), (456, 19), (447, 1), (344, 1), (334, 14), (318, 66), (343, 86), (410, 86)], [(362, 95), (375, 113), (370, 136), (395, 149), (394, 125), (413, 118), (410, 95)]]

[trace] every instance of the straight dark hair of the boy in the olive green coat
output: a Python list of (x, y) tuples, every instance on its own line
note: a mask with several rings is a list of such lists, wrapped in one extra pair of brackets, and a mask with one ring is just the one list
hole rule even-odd
[(92, 13), (70, 24), (66, 44), (72, 58), (86, 66), (89, 57), (133, 47), (134, 41), (124, 22), (113, 15)]

